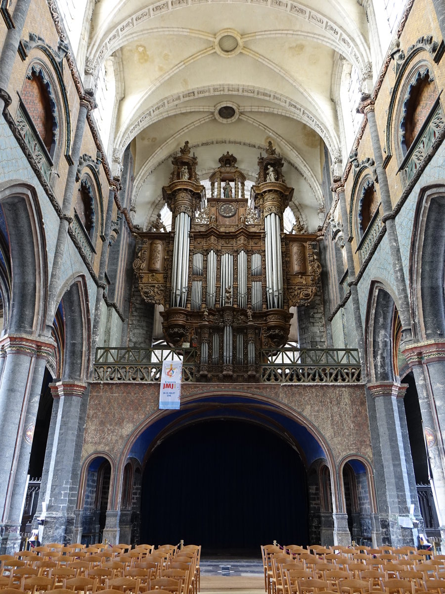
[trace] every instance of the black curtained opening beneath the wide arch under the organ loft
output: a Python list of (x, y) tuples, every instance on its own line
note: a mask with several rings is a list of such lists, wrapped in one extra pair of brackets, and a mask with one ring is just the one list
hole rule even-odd
[(307, 544), (307, 476), (297, 451), (258, 425), (212, 420), (155, 448), (142, 481), (141, 542), (258, 550)]

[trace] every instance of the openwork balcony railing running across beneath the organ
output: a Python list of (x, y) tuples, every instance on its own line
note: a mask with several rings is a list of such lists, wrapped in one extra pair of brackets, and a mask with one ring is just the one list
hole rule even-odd
[[(206, 364), (201, 369), (198, 349), (96, 349), (93, 381), (159, 382), (163, 361), (182, 361), (183, 381), (249, 381), (291, 384), (361, 383), (361, 365), (356, 349), (262, 349), (253, 366), (230, 365), (220, 370)], [(205, 372), (204, 372), (205, 367)], [(233, 378), (229, 377), (233, 375)], [(247, 381), (247, 380), (246, 380)]]

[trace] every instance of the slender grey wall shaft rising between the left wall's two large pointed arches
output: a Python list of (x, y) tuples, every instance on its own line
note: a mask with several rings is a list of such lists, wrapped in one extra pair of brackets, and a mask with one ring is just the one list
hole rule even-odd
[(62, 211), (63, 217), (59, 222), (59, 231), (57, 235), (56, 247), (54, 251), (54, 260), (51, 268), (51, 277), (48, 286), (48, 300), (47, 300), (47, 315), (46, 315), (46, 331), (48, 335), (51, 333), (52, 324), (58, 307), (56, 299), (61, 285), (62, 265), (65, 258), (65, 250), (68, 241), (68, 225), (71, 222), (71, 208), (72, 198), (74, 192), (74, 184), (76, 172), (79, 162), (80, 150), (82, 146), (82, 138), (84, 136), (85, 122), (87, 119), (87, 112), (93, 107), (93, 99), (90, 96), (84, 95), (80, 101), (79, 113), (77, 116), (77, 124), (74, 133), (74, 140), (71, 146), (71, 158), (73, 165), (69, 165), (68, 173), (66, 174), (65, 192), (63, 193)]

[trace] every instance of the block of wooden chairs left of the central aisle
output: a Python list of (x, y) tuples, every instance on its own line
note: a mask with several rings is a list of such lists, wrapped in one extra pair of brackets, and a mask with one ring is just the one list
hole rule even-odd
[[(0, 555), (0, 591), (35, 594), (62, 590), (95, 594), (117, 590), (138, 594), (163, 589), (198, 594), (201, 546), (164, 545), (63, 547), (50, 544), (15, 555)], [(12, 594), (12, 593), (11, 593)]]

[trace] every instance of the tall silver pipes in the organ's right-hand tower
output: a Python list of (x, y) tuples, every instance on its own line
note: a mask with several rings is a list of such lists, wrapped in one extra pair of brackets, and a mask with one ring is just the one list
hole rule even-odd
[(266, 231), (266, 293), (268, 308), (283, 307), (283, 274), (279, 216), (268, 214), (264, 219)]

